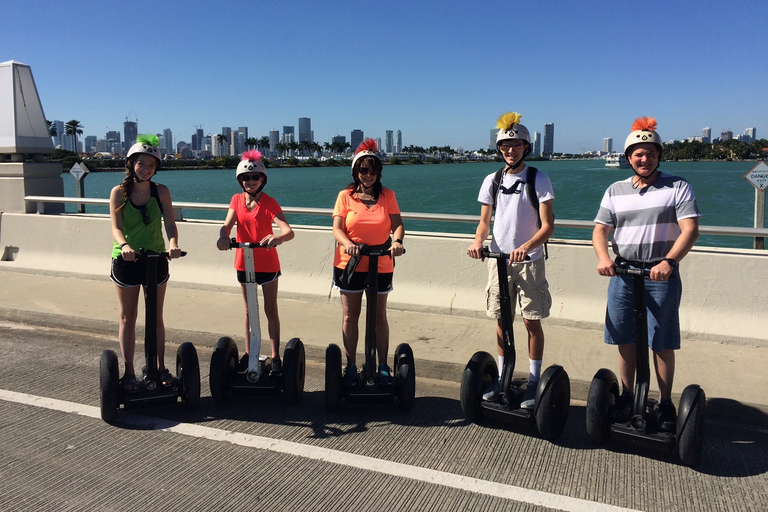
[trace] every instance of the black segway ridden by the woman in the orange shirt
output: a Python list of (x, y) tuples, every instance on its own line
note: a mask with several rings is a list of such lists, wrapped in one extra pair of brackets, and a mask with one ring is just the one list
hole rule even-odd
[(365, 281), (365, 364), (357, 374), (355, 386), (342, 385), (341, 349), (330, 344), (325, 351), (325, 408), (336, 411), (342, 400), (346, 403), (394, 402), (410, 410), (416, 397), (416, 369), (413, 351), (407, 343), (395, 349), (394, 378), (379, 382), (376, 361), (376, 308), (378, 305), (379, 257), (391, 256), (390, 244), (366, 246), (359, 244), (360, 256), (368, 257)]

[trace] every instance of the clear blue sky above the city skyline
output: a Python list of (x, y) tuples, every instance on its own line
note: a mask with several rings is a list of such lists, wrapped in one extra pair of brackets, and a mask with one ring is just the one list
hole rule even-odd
[(768, 138), (764, 1), (6, 2), (0, 62), (28, 64), (46, 117), (103, 137), (190, 141), (312, 119), (404, 145), (486, 147), (496, 118), (555, 124), (555, 151), (756, 127)]

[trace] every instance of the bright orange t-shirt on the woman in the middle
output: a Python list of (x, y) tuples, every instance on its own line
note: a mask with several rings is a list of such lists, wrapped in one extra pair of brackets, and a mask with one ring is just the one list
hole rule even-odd
[[(387, 242), (392, 233), (392, 221), (389, 216), (399, 214), (395, 193), (382, 187), (379, 200), (371, 208), (366, 207), (356, 194), (350, 195), (349, 189), (339, 192), (336, 197), (336, 205), (333, 207), (333, 216), (344, 219), (347, 236), (356, 244), (381, 245)], [(345, 268), (349, 261), (349, 255), (344, 252), (344, 247), (337, 244), (333, 256), (333, 266)], [(387, 256), (379, 257), (379, 273), (393, 272), (394, 259)], [(363, 257), (357, 265), (355, 272), (368, 272), (368, 258)]]

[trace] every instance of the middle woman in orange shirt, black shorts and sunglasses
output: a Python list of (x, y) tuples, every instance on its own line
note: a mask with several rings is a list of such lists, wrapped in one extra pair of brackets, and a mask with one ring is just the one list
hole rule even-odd
[[(381, 184), (381, 159), (376, 154), (373, 139), (363, 141), (352, 159), (352, 179), (339, 192), (333, 208), (333, 236), (337, 248), (333, 258), (333, 283), (341, 294), (342, 338), (347, 367), (343, 384), (357, 385), (356, 350), (359, 337), (358, 320), (363, 302), (363, 289), (368, 273), (368, 258), (360, 257), (357, 244), (377, 246), (394, 240), (390, 258), (379, 258), (378, 301), (376, 311), (376, 351), (379, 360), (378, 374), (383, 382), (391, 381), (392, 371), (387, 366), (389, 351), (389, 323), (387, 322), (387, 294), (392, 291), (394, 257), (403, 254), (405, 228), (400, 218), (400, 207), (395, 193)], [(355, 271), (344, 276), (350, 258), (360, 258)]]

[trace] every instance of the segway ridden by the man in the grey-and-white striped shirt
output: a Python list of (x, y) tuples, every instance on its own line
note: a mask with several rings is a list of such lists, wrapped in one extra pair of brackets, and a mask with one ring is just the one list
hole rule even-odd
[(691, 384), (683, 390), (674, 432), (660, 431), (658, 403), (648, 398), (651, 370), (648, 357), (648, 322), (645, 307), (645, 278), (650, 270), (628, 266), (615, 268), (617, 274), (632, 277), (635, 300), (635, 347), (637, 354), (637, 378), (635, 399), (628, 420), (614, 418), (611, 414), (619, 399), (619, 381), (606, 368), (600, 369), (592, 379), (587, 397), (587, 433), (595, 444), (602, 445), (611, 438), (620, 439), (636, 446), (677, 453), (680, 461), (695, 466), (701, 460), (704, 442), (704, 417), (707, 400), (704, 390)]

